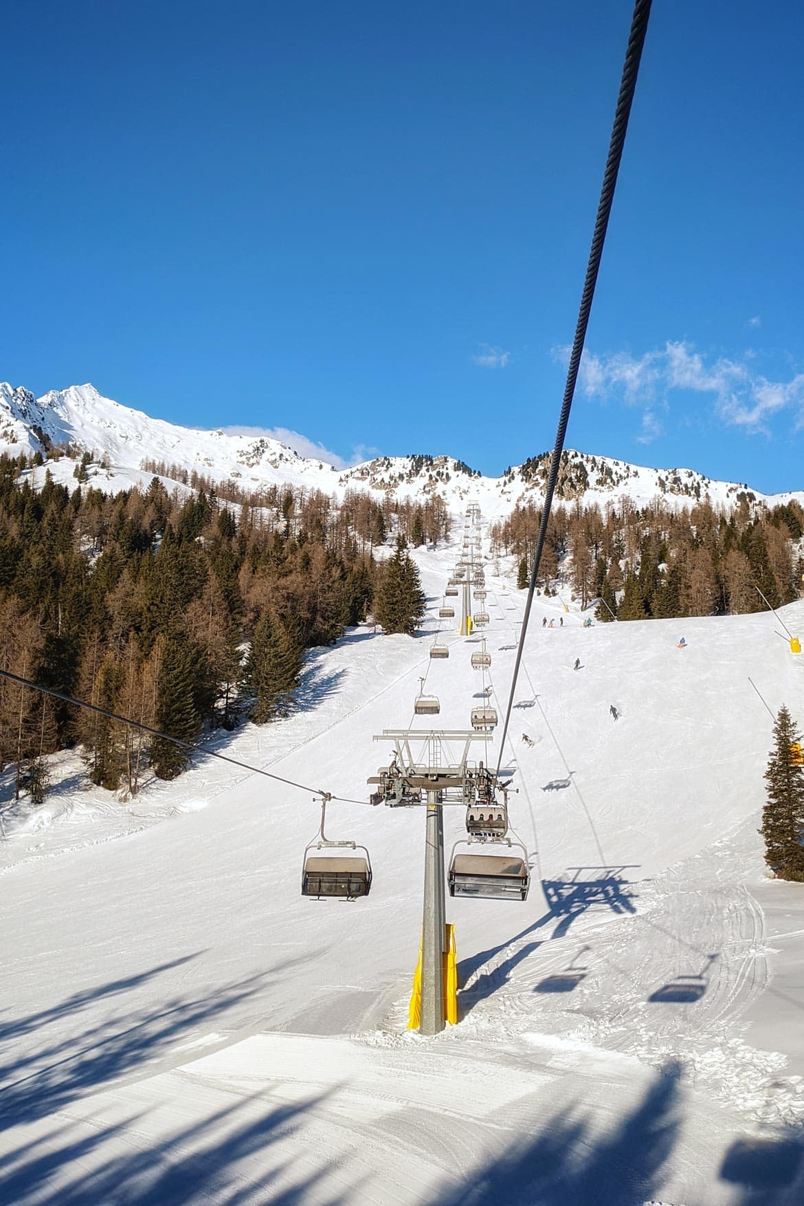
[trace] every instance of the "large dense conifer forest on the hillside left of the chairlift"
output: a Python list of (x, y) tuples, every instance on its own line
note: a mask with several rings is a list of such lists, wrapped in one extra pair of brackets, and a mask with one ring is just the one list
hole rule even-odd
[[(403, 545), (448, 534), (438, 498), (335, 503), (272, 487), (234, 505), (213, 490), (169, 493), (158, 478), (106, 494), (46, 474), (34, 490), (24, 468), (0, 461), (0, 666), (190, 743), (283, 710), (304, 649), (364, 620), (405, 570), (404, 551), (374, 556), (391, 533)], [(82, 458), (78, 481), (86, 469)], [(0, 681), (0, 763), (16, 767), (16, 796), (41, 798), (47, 755), (74, 745), (93, 783), (129, 795), (146, 767), (169, 779), (187, 763), (169, 742)]]

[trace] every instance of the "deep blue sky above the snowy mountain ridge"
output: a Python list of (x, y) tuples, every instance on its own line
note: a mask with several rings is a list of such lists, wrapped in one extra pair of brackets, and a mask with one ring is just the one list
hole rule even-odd
[[(0, 380), (552, 446), (630, 0), (11, 0)], [(804, 10), (653, 6), (568, 444), (804, 486)]]

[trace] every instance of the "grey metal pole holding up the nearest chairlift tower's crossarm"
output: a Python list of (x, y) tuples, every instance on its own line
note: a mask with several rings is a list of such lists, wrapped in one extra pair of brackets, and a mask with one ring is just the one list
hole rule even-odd
[(424, 839), (424, 915), (422, 919), (422, 1020), (419, 1034), (444, 1030), (444, 938), (446, 900), (444, 894), (444, 816), (439, 792), (427, 794)]

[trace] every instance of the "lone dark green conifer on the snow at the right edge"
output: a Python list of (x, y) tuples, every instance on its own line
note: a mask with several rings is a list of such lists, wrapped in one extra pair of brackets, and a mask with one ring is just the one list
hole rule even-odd
[(798, 762), (798, 728), (784, 706), (776, 716), (774, 739), (759, 830), (765, 839), (765, 862), (780, 879), (804, 883), (804, 766)]

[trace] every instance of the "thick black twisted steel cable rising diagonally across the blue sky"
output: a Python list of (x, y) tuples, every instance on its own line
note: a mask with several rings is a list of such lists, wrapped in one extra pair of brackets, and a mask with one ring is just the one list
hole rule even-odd
[(507, 712), (505, 713), (505, 724), (503, 726), (503, 739), (500, 740), (500, 756), (499, 756), (499, 762), (497, 765), (498, 773), (503, 763), (503, 750), (505, 748), (505, 737), (507, 734), (509, 722), (511, 719), (511, 708), (513, 707), (516, 680), (520, 673), (520, 662), (522, 661), (522, 651), (524, 649), (524, 638), (528, 631), (528, 620), (530, 619), (533, 596), (536, 589), (536, 578), (539, 576), (539, 564), (541, 562), (541, 554), (545, 548), (545, 539), (547, 537), (547, 521), (550, 520), (550, 508), (552, 505), (553, 492), (556, 490), (556, 481), (558, 479), (558, 469), (561, 466), (562, 452), (564, 451), (564, 437), (567, 434), (567, 423), (569, 422), (569, 412), (573, 406), (573, 397), (575, 394), (575, 382), (577, 381), (577, 371), (581, 364), (581, 353), (583, 352), (583, 344), (586, 341), (586, 328), (589, 322), (589, 312), (592, 310), (592, 298), (594, 297), (594, 286), (597, 285), (598, 280), (600, 257), (603, 256), (603, 245), (606, 238), (609, 216), (611, 213), (611, 203), (614, 201), (615, 188), (617, 185), (617, 172), (620, 171), (620, 160), (622, 158), (622, 151), (626, 144), (628, 117), (630, 115), (630, 105), (634, 99), (634, 89), (636, 88), (639, 62), (642, 55), (642, 46), (645, 45), (645, 34), (647, 31), (647, 18), (650, 17), (650, 14), (651, 14), (651, 0), (636, 0), (636, 4), (634, 5), (634, 16), (630, 24), (630, 35), (628, 37), (628, 49), (626, 51), (626, 63), (622, 70), (620, 95), (617, 98), (617, 107), (615, 110), (615, 121), (611, 130), (611, 141), (609, 144), (609, 157), (606, 159), (606, 168), (603, 174), (603, 187), (600, 189), (600, 200), (598, 203), (598, 216), (594, 223), (594, 234), (592, 235), (592, 247), (589, 250), (589, 259), (586, 269), (586, 280), (583, 281), (581, 305), (577, 315), (577, 324), (575, 327), (575, 339), (573, 341), (573, 351), (570, 353), (569, 369), (567, 371), (567, 386), (564, 388), (564, 400), (562, 403), (561, 416), (558, 420), (558, 431), (556, 432), (556, 444), (553, 446), (552, 461), (550, 463), (550, 475), (547, 478), (547, 486), (545, 490), (545, 505), (541, 513), (541, 523), (539, 525), (539, 539), (536, 540), (536, 551), (533, 560), (530, 584), (528, 586), (528, 598), (524, 605), (524, 616), (522, 620), (522, 632), (520, 633), (520, 646), (517, 649), (516, 663), (513, 666), (513, 678), (511, 679), (511, 695), (509, 697)]

